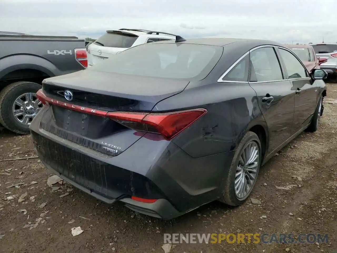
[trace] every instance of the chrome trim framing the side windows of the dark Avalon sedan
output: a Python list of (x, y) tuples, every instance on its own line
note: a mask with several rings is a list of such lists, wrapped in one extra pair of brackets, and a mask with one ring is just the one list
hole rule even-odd
[[(229, 81), (229, 80), (222, 80), (244, 57), (246, 57), (248, 54), (250, 54), (251, 52), (253, 52), (256, 49), (259, 48), (279, 48), (279, 49), (284, 49), (288, 52), (290, 52), (291, 54), (293, 54), (302, 64), (302, 66), (304, 67), (304, 69), (306, 70), (308, 76), (307, 77), (301, 77), (301, 78), (288, 78), (288, 79), (282, 79), (282, 80), (273, 80), (273, 81), (261, 81), (261, 82), (242, 82), (242, 81)], [(282, 47), (282, 46), (275, 46), (275, 45), (261, 45), (261, 46), (257, 46), (255, 48), (252, 48), (251, 50), (249, 50), (248, 52), (246, 52), (245, 54), (243, 54), (238, 60), (236, 60), (218, 79), (218, 83), (270, 83), (270, 82), (280, 82), (280, 81), (292, 81), (292, 80), (301, 80), (301, 79), (307, 79), (307, 78), (311, 78), (310, 74), (307, 70), (307, 68), (304, 66), (304, 64), (302, 63), (302, 61), (297, 57), (297, 55), (295, 55), (292, 51), (290, 51), (290, 49)]]

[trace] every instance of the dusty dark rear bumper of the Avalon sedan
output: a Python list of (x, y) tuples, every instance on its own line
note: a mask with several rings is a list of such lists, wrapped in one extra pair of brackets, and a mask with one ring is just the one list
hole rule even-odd
[[(41, 128), (43, 111), (30, 125), (34, 149), (45, 166), (70, 184), (106, 203), (172, 219), (217, 199), (233, 152), (191, 158), (174, 143), (146, 135), (112, 157)], [(157, 199), (144, 203), (136, 196)]]

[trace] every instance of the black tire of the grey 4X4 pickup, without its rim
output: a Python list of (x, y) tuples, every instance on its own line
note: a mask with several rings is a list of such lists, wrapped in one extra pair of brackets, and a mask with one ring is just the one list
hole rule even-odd
[(14, 101), (22, 94), (36, 93), (41, 85), (33, 82), (20, 81), (6, 86), (0, 92), (0, 123), (8, 130), (17, 134), (29, 134), (28, 125), (18, 122), (13, 113)]

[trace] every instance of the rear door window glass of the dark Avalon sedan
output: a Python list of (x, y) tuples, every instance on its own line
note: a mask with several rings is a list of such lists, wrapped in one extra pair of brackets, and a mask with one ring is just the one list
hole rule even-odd
[(272, 47), (259, 48), (250, 53), (250, 81), (282, 80), (280, 63)]

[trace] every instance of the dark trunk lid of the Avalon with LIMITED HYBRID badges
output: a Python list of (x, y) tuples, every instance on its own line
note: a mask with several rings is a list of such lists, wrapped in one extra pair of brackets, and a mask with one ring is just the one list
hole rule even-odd
[[(159, 101), (181, 92), (187, 84), (186, 80), (135, 79), (88, 70), (48, 78), (43, 81), (43, 92), (50, 106), (45, 109), (41, 125), (62, 138), (116, 156), (144, 132), (126, 128), (105, 114), (151, 112)], [(66, 91), (71, 92), (70, 101), (66, 99)]]

